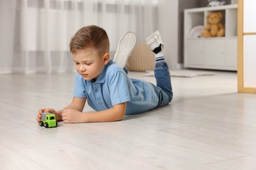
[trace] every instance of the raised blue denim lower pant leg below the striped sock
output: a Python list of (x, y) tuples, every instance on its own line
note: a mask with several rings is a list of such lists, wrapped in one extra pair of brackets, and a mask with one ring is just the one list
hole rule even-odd
[(171, 87), (171, 75), (167, 63), (156, 63), (154, 73), (156, 77), (156, 93), (159, 97), (157, 107), (168, 105), (173, 99), (173, 89)]

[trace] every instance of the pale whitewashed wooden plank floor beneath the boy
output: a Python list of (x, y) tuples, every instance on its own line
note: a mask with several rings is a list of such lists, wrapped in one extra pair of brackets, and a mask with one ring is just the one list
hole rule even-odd
[(237, 93), (234, 72), (173, 77), (170, 105), (120, 122), (52, 129), (37, 110), (68, 105), (74, 73), (0, 80), (0, 169), (256, 169), (256, 94)]

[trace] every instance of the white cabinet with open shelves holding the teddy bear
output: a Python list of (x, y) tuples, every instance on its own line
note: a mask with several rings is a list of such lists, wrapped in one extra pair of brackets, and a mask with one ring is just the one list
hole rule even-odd
[[(237, 69), (237, 5), (184, 10), (184, 67), (199, 69)], [(224, 37), (196, 37), (192, 30), (207, 24), (210, 12), (223, 14)], [(196, 31), (195, 31), (196, 34)]]

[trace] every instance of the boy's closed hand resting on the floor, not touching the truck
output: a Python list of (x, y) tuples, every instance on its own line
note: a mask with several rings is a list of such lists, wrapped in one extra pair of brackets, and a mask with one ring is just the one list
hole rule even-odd
[(62, 120), (68, 124), (81, 123), (81, 116), (82, 112), (75, 109), (66, 109), (62, 112)]

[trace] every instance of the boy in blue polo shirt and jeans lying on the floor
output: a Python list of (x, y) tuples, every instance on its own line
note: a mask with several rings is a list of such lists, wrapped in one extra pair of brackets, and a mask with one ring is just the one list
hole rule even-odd
[[(64, 123), (117, 121), (122, 120), (125, 114), (145, 112), (171, 102), (171, 78), (163, 58), (159, 31), (146, 39), (146, 44), (156, 56), (154, 73), (157, 86), (130, 79), (125, 73), (125, 65), (136, 40), (135, 33), (123, 35), (114, 62), (110, 60), (110, 42), (104, 29), (95, 25), (79, 29), (70, 42), (77, 71), (73, 101), (59, 111), (40, 109), (37, 122), (41, 121), (42, 112), (52, 112), (57, 121), (63, 120)], [(96, 112), (83, 112), (86, 101)]]

